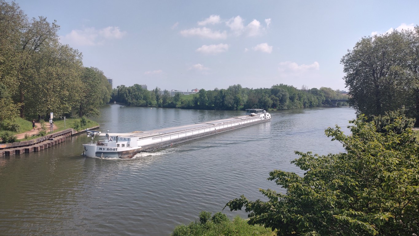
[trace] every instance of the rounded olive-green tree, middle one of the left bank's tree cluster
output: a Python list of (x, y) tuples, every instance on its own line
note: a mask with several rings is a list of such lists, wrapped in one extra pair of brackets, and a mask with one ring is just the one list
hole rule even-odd
[(78, 106), (87, 92), (81, 80), (80, 52), (54, 41), (32, 58), (32, 83), (25, 92), (25, 113), (63, 114)]

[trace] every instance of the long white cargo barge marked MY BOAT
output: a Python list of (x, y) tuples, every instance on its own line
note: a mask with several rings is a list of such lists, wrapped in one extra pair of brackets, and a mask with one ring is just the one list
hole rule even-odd
[(83, 144), (84, 155), (99, 158), (132, 158), (140, 152), (149, 152), (270, 120), (271, 114), (263, 109), (246, 109), (244, 116), (158, 130), (131, 133), (102, 133), (86, 130), (88, 136), (106, 136), (107, 139)]

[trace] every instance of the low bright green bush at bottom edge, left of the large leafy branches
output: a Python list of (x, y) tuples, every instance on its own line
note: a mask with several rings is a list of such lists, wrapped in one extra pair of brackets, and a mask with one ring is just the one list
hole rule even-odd
[[(203, 223), (202, 223), (203, 222)], [(263, 226), (251, 226), (247, 220), (236, 216), (230, 220), (227, 215), (217, 212), (211, 218), (210, 212), (199, 213), (199, 222), (176, 226), (171, 236), (271, 236), (272, 231)]]

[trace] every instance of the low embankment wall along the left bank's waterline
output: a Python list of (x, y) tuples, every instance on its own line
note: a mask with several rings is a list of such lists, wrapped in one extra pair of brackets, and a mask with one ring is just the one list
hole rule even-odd
[[(97, 130), (99, 126), (91, 127), (89, 130)], [(79, 135), (86, 132), (86, 130), (77, 131), (73, 128), (54, 132), (43, 137), (37, 137), (33, 140), (0, 144), (0, 156), (12, 156), (15, 154), (31, 153), (44, 150), (58, 143), (64, 142), (67, 137)], [(53, 140), (49, 140), (52, 136)]]

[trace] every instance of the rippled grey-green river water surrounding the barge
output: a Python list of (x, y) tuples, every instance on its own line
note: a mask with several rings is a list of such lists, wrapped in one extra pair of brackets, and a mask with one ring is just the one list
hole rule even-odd
[[(243, 111), (158, 109), (107, 105), (101, 131), (132, 132), (244, 114)], [(282, 191), (269, 171), (303, 174), (290, 164), (295, 150), (344, 151), (324, 135), (345, 127), (354, 109), (272, 112), (272, 121), (141, 153), (133, 159), (85, 158), (80, 135), (37, 153), (0, 157), (0, 235), (169, 235), (200, 211), (221, 211), (258, 188)], [(95, 138), (97, 139), (97, 137)], [(246, 213), (224, 210), (230, 218)]]

